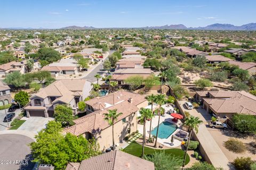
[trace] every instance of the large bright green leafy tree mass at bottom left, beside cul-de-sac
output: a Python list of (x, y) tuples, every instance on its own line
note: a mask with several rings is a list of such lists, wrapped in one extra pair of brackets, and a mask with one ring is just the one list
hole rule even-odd
[(50, 121), (46, 128), (38, 132), (36, 142), (30, 143), (33, 162), (52, 164), (55, 169), (65, 169), (68, 162), (80, 163), (100, 154), (95, 139), (87, 140), (82, 135), (61, 133), (61, 124)]

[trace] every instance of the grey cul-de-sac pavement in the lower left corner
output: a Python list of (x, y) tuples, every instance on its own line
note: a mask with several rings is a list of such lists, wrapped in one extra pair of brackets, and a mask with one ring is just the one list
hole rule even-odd
[(0, 170), (32, 169), (29, 143), (32, 139), (20, 134), (0, 135)]

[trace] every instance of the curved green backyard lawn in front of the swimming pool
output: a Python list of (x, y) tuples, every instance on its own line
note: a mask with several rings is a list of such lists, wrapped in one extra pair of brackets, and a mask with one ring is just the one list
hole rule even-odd
[[(141, 156), (141, 152), (142, 152), (142, 146), (139, 145), (136, 142), (133, 142), (129, 146), (124, 148), (123, 151), (128, 153), (128, 154), (140, 157)], [(150, 154), (154, 153), (154, 151), (159, 152), (159, 151), (161, 151), (161, 149), (151, 149), (151, 148), (145, 147), (145, 155), (150, 155)], [(164, 151), (165, 151), (165, 154), (172, 154), (174, 156), (180, 157), (181, 159), (183, 159), (184, 154), (185, 154), (185, 151), (183, 151), (181, 149), (177, 149), (177, 148), (165, 149)], [(189, 161), (190, 161), (190, 158), (189, 158), (189, 156), (187, 154), (186, 165), (189, 163)]]

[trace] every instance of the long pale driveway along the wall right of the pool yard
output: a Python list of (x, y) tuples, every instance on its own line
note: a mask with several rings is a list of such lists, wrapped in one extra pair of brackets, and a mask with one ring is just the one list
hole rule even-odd
[(205, 126), (206, 121), (208, 120), (205, 109), (197, 109), (199, 112), (196, 109), (187, 110), (183, 107), (185, 102), (186, 101), (179, 101), (179, 104), (181, 105), (183, 111), (187, 111), (190, 113), (190, 115), (199, 117), (204, 122), (201, 125), (199, 125), (196, 137), (198, 138), (200, 145), (204, 148), (212, 165), (214, 167), (222, 167), (223, 169), (231, 169), (227, 157), (225, 156), (225, 154), (223, 154), (217, 142), (214, 140), (214, 138), (212, 137), (212, 135)]

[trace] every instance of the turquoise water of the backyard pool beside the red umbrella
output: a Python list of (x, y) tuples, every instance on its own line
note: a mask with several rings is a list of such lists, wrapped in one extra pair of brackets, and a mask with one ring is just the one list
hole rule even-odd
[[(167, 139), (176, 129), (178, 129), (177, 125), (169, 122), (162, 122), (159, 124), (158, 138)], [(157, 126), (151, 131), (151, 133), (156, 136), (156, 131)]]

